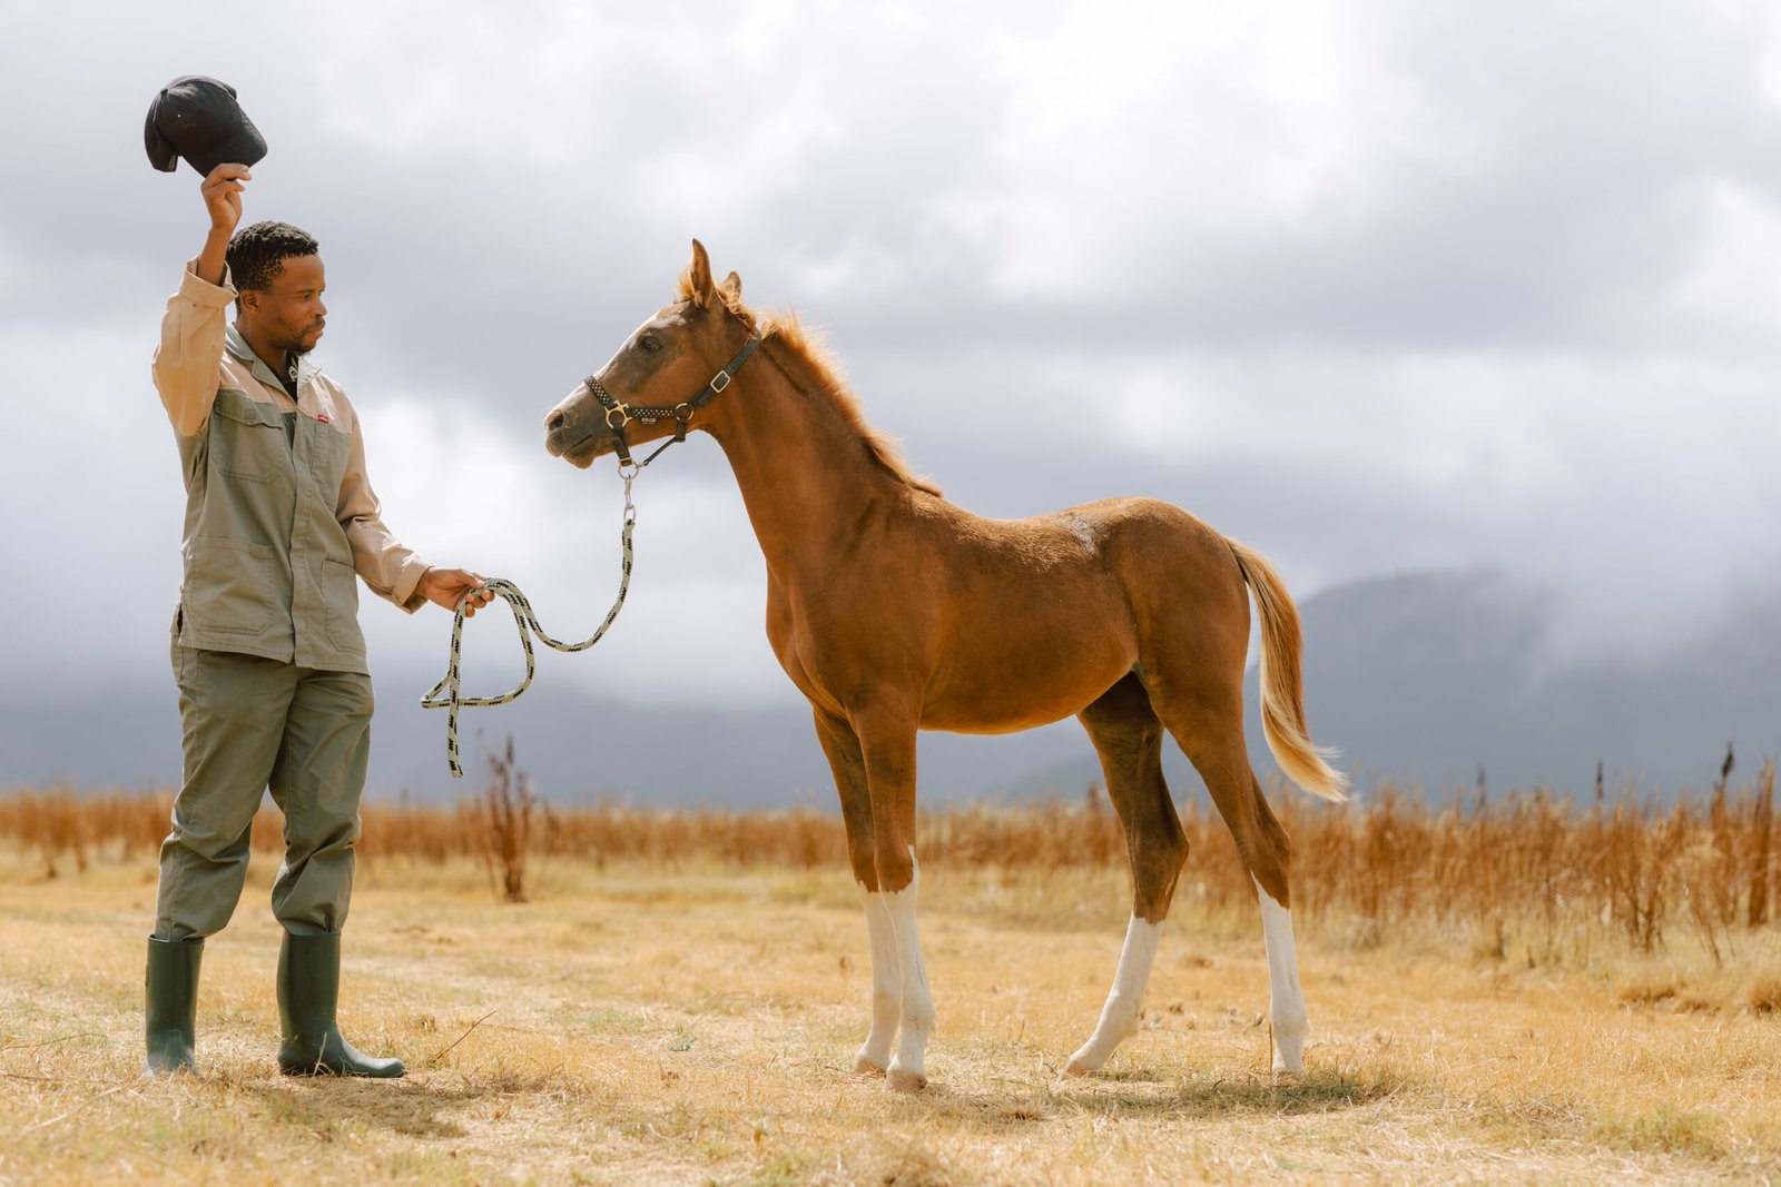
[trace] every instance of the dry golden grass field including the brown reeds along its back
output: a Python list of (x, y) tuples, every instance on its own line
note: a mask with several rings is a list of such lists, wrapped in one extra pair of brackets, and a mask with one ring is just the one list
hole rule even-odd
[(1140, 1032), (1076, 1080), (1127, 911), (1117, 828), (928, 817), (915, 1096), (851, 1071), (866, 927), (828, 817), (522, 804), (508, 902), (488, 803), (367, 810), (342, 1023), (410, 1064), (376, 1084), (276, 1073), (267, 817), (205, 954), (203, 1073), (142, 1082), (166, 799), (14, 792), (0, 1183), (1781, 1182), (1769, 778), (1676, 808), (1275, 797), (1313, 1021), (1279, 1084), (1215, 820), (1190, 812)]

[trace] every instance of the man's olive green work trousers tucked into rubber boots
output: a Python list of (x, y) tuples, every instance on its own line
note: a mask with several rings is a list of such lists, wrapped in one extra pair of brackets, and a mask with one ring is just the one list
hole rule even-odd
[(160, 845), (155, 938), (223, 931), (267, 790), (285, 817), (272, 915), (296, 936), (340, 931), (370, 756), (370, 678), (178, 644), (173, 667), (185, 778)]

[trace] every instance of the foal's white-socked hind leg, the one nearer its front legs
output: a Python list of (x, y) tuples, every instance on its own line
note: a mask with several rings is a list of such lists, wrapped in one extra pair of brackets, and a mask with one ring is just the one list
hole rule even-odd
[(1163, 724), (1138, 678), (1126, 676), (1108, 689), (1079, 714), (1079, 721), (1101, 755), (1108, 799), (1126, 829), (1131, 861), (1131, 922), (1113, 972), (1113, 989), (1095, 1032), (1065, 1068), (1072, 1075), (1092, 1075), (1138, 1025), (1163, 916), (1175, 893), (1175, 876), (1188, 858), (1188, 838), (1163, 781)]

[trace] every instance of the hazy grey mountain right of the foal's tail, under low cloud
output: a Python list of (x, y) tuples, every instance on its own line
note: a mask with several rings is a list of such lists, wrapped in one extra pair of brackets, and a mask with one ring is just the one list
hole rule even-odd
[(1362, 776), (1585, 794), (1596, 763), (1674, 794), (1781, 755), (1781, 596), (1674, 650), (1560, 666), (1551, 598), (1492, 573), (1411, 575), (1304, 607), (1307, 712)]

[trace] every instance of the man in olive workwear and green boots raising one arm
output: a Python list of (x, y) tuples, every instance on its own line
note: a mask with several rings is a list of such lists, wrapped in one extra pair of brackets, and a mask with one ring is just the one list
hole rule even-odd
[(146, 1073), (194, 1070), (205, 936), (240, 900), (271, 788), (285, 815), (278, 1064), (399, 1077), (401, 1061), (360, 1054), (335, 1025), (372, 712), (354, 573), (408, 612), (465, 598), (474, 612), (490, 593), (476, 573), (429, 568), (379, 520), (358, 416), (310, 361), (328, 315), (317, 244), (283, 222), (235, 233), (249, 178), (239, 164), (205, 176), (210, 233), (155, 351), (187, 491), (173, 621), (185, 778), (160, 847)]

